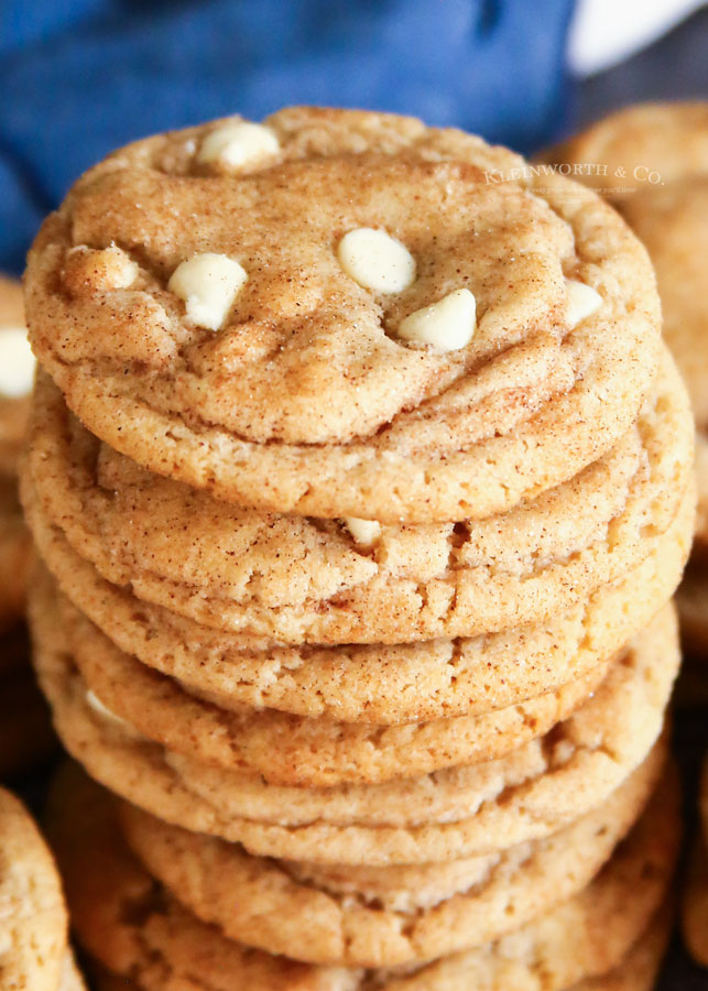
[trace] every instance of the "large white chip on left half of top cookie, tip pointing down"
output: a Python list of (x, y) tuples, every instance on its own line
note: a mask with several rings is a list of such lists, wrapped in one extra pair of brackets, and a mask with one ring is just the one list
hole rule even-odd
[(197, 327), (218, 330), (247, 279), (232, 258), (207, 251), (177, 265), (167, 288), (185, 301)]

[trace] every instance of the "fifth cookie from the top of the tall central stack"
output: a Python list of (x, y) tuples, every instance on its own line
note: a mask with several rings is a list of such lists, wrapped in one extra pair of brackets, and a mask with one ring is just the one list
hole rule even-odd
[(505, 758), (305, 789), (210, 767), (137, 733), (87, 697), (51, 603), (32, 605), (42, 687), (63, 742), (91, 775), (166, 821), (292, 860), (444, 861), (548, 836), (600, 805), (642, 763), (678, 667), (675, 617), (665, 609), (588, 704)]

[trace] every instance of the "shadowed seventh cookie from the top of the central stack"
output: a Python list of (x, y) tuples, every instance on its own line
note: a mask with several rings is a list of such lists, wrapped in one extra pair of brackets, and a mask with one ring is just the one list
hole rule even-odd
[(64, 776), (55, 788), (52, 838), (80, 941), (144, 991), (177, 984), (195, 991), (555, 991), (617, 967), (649, 926), (677, 852), (677, 804), (674, 795), (655, 805), (575, 897), (500, 940), (397, 974), (297, 963), (225, 939), (134, 860), (111, 799), (86, 778)]

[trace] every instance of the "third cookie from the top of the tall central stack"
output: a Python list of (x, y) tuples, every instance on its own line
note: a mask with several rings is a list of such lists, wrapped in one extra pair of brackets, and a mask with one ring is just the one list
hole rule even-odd
[(218, 633), (106, 582), (45, 524), (26, 481), (25, 512), (40, 553), (62, 590), (126, 653), (222, 708), (266, 706), (370, 723), (489, 712), (585, 676), (672, 596), (694, 526), (690, 492), (639, 568), (547, 623), (455, 642), (287, 649)]

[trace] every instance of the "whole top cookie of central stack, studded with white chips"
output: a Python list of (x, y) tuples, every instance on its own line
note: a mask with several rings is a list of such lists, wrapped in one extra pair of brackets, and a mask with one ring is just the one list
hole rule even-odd
[(130, 145), (47, 219), (26, 288), (35, 352), (95, 434), (276, 512), (507, 509), (607, 451), (657, 364), (653, 273), (611, 209), (378, 113)]

